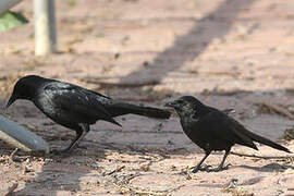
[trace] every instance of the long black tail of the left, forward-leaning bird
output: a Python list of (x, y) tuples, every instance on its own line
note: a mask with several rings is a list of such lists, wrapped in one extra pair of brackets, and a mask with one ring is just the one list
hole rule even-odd
[(167, 110), (151, 107), (136, 106), (125, 102), (112, 105), (109, 110), (111, 110), (113, 117), (132, 113), (155, 119), (169, 119), (171, 115), (171, 113)]

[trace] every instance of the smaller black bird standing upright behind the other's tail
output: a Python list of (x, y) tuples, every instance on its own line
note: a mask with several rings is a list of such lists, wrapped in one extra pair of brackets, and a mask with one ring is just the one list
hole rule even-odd
[[(258, 150), (254, 142), (268, 145), (278, 150), (291, 152), (287, 148), (275, 144), (265, 137), (249, 132), (237, 121), (229, 117), (225, 112), (208, 107), (192, 96), (184, 96), (177, 100), (166, 103), (167, 107), (174, 108), (180, 115), (184, 133), (197, 146), (205, 150), (206, 156), (194, 168), (193, 172), (221, 171), (231, 147), (235, 144), (250, 147)], [(220, 166), (213, 170), (201, 168), (201, 163), (212, 150), (225, 150)]]

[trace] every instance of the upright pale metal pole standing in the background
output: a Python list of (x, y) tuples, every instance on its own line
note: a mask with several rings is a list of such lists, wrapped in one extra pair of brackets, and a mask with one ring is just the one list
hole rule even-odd
[(46, 56), (57, 50), (54, 0), (34, 0), (35, 54)]

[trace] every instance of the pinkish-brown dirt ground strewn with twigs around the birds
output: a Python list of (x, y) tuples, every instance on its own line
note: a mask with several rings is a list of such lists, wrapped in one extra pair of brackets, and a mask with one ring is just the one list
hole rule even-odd
[[(194, 95), (252, 131), (280, 142), (294, 127), (294, 2), (281, 0), (56, 1), (58, 53), (34, 56), (32, 1), (14, 10), (30, 20), (1, 34), (0, 106), (26, 74), (75, 83), (134, 103), (162, 107)], [(4, 115), (62, 148), (74, 137), (33, 103), (17, 101)], [(176, 115), (158, 121), (106, 122), (70, 156), (9, 155), (0, 143), (0, 189), (13, 195), (294, 195), (293, 158), (229, 156), (230, 169), (191, 173), (203, 151), (182, 133)], [(287, 156), (266, 146), (259, 151)], [(217, 167), (221, 152), (207, 164)], [(17, 186), (17, 187), (16, 187)], [(15, 188), (16, 187), (16, 188)]]

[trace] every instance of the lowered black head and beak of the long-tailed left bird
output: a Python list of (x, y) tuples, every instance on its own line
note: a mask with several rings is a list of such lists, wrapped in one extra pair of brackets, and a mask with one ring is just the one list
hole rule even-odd
[(35, 94), (35, 86), (39, 81), (37, 75), (27, 75), (20, 78), (14, 85), (12, 95), (9, 98), (5, 109), (8, 109), (17, 99), (30, 100)]

